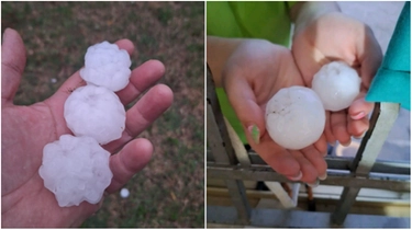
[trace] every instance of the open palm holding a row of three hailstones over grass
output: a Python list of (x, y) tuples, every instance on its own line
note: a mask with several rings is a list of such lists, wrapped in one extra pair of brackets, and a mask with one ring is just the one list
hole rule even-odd
[[(116, 42), (129, 54), (134, 50), (127, 39)], [(20, 35), (7, 28), (1, 48), (1, 209), (2, 227), (69, 227), (79, 226), (96, 212), (100, 204), (87, 202), (79, 206), (62, 208), (38, 175), (43, 147), (64, 134), (71, 134), (63, 116), (63, 106), (70, 90), (85, 85), (79, 71), (74, 73), (49, 99), (31, 106), (13, 104), (25, 66), (25, 48)], [(155, 85), (165, 72), (157, 60), (149, 60), (132, 71), (127, 87), (116, 94), (123, 104), (131, 103), (149, 89), (126, 112), (126, 128), (122, 137), (105, 146), (115, 153), (110, 158), (113, 179), (108, 193), (121, 188), (149, 161), (152, 143), (144, 138), (134, 139), (156, 120), (172, 103), (171, 90)]]

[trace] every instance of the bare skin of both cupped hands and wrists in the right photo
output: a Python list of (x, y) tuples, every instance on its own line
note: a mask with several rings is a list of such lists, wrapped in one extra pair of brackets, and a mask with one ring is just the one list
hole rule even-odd
[[(365, 92), (382, 59), (370, 28), (338, 11), (334, 2), (297, 3), (290, 12), (296, 23), (291, 51), (268, 42), (208, 36), (214, 83), (224, 88), (252, 148), (278, 173), (311, 185), (326, 177), (327, 142), (348, 145), (350, 136), (368, 129), (366, 115), (374, 105), (365, 102)], [(266, 102), (280, 88), (311, 87), (313, 74), (332, 60), (344, 60), (358, 71), (361, 93), (349, 108), (326, 112), (324, 134), (313, 146), (300, 151), (279, 147), (265, 129)], [(254, 126), (257, 139), (252, 137)]]

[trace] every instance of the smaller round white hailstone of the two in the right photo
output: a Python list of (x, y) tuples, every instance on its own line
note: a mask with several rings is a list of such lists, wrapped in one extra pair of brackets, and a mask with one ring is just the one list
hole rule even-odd
[(343, 61), (324, 65), (312, 80), (312, 90), (321, 97), (327, 111), (347, 108), (359, 94), (360, 78)]

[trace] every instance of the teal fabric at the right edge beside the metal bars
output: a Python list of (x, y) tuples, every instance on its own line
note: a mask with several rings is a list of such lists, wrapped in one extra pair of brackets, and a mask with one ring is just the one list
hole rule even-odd
[(411, 110), (411, 2), (405, 2), (382, 65), (366, 95), (369, 102), (400, 103)]

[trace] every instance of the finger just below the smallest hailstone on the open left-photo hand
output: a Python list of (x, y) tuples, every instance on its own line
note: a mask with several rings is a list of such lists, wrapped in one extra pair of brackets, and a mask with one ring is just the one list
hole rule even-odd
[(132, 71), (130, 83), (116, 94), (124, 105), (153, 87), (165, 74), (165, 66), (158, 60), (148, 60)]

